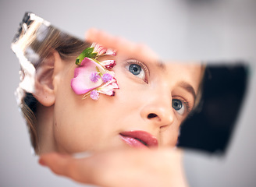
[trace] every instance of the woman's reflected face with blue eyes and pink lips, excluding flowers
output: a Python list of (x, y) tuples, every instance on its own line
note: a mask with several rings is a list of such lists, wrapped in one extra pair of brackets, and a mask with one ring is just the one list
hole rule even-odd
[(201, 65), (112, 58), (119, 90), (113, 97), (101, 94), (98, 101), (73, 92), (75, 60), (63, 62), (65, 68), (54, 80), (56, 150), (175, 146), (180, 124), (194, 106)]

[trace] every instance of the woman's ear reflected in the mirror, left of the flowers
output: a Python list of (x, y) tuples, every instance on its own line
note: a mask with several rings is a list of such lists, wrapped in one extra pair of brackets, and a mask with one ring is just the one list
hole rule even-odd
[(50, 107), (55, 104), (55, 92), (53, 79), (58, 71), (58, 64), (61, 63), (61, 58), (57, 51), (51, 51), (47, 58), (37, 67), (34, 97), (45, 107)]

